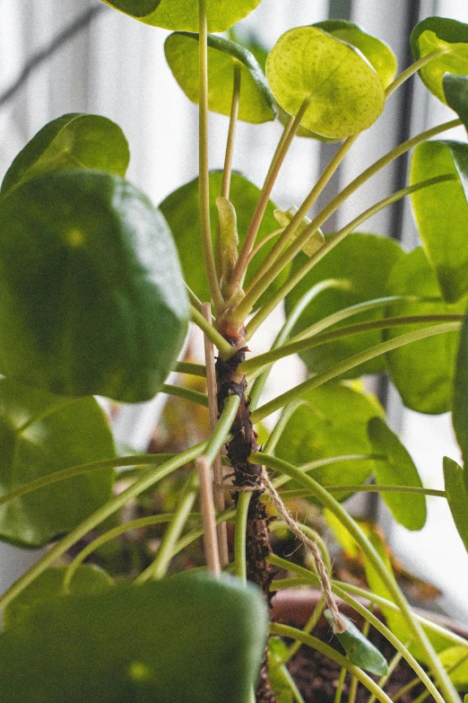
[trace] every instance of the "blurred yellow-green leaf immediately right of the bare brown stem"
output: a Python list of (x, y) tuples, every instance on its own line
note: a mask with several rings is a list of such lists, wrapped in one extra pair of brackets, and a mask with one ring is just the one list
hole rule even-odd
[[(328, 457), (372, 453), (368, 420), (384, 415), (374, 396), (342, 383), (326, 383), (304, 400), (290, 417), (276, 456), (299, 466)], [(375, 461), (338, 461), (314, 470), (314, 479), (323, 486), (363, 483), (375, 470)]]

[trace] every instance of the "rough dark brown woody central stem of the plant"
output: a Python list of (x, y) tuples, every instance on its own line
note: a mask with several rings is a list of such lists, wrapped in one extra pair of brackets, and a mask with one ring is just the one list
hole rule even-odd
[[(218, 411), (224, 407), (224, 400), (231, 395), (238, 395), (240, 402), (238, 413), (231, 429), (232, 439), (227, 445), (227, 453), (234, 471), (234, 486), (237, 488), (257, 488), (253, 491), (247, 514), (246, 563), (247, 579), (257, 584), (271, 604), (270, 584), (273, 569), (266, 559), (271, 554), (268, 540), (269, 518), (266, 507), (260, 502), (264, 492), (263, 470), (260, 464), (251, 463), (249, 457), (258, 450), (257, 435), (250, 421), (249, 400), (247, 398), (247, 381), (245, 375), (238, 373), (238, 365), (245, 358), (248, 349), (242, 347), (227, 361), (218, 358), (216, 378), (218, 388)], [(235, 493), (237, 500), (238, 492)], [(275, 703), (276, 698), (268, 680), (267, 653), (260, 672), (256, 689), (256, 703)]]

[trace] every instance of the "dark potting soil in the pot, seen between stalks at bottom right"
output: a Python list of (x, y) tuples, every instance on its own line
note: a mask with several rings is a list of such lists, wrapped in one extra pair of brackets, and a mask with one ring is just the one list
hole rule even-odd
[[(330, 629), (315, 629), (313, 634), (315, 637), (322, 639), (327, 645), (333, 646), (334, 649), (342, 652), (342, 647), (332, 635)], [(386, 657), (387, 662), (390, 662), (395, 654), (395, 650), (386, 638), (376, 630), (371, 630), (368, 638)], [(288, 669), (306, 703), (333, 703), (341, 672), (341, 667), (337, 663), (332, 662), (325, 655), (316, 652), (316, 650), (311, 647), (301, 646), (297, 655), (290, 660)], [(384, 687), (386, 694), (393, 700), (397, 691), (412, 681), (415, 676), (416, 674), (413, 672), (411, 666), (404, 660), (401, 660)], [(374, 681), (378, 681), (377, 676), (371, 676), (371, 678), (373, 678)], [(342, 689), (342, 703), (346, 703), (348, 700), (350, 683), (351, 674), (347, 673)], [(412, 703), (424, 690), (425, 686), (419, 683), (417, 686), (414, 686), (412, 690), (404, 693), (398, 700), (401, 703)], [(369, 696), (370, 692), (368, 689), (362, 684), (359, 684), (356, 694), (356, 703), (368, 703)], [(434, 703), (432, 696), (429, 696), (426, 700), (428, 703)]]

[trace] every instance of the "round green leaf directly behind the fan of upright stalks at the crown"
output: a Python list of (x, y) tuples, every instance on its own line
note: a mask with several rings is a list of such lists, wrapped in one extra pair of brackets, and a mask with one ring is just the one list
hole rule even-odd
[[(221, 194), (221, 171), (210, 173), (210, 212), (212, 224), (212, 242), (216, 245), (218, 233), (218, 210), (216, 198)], [(232, 174), (230, 183), (230, 202), (236, 208), (238, 219), (238, 238), (240, 244), (244, 242), (252, 215), (254, 214), (260, 190), (250, 183), (240, 173)], [(269, 233), (278, 229), (278, 224), (274, 219), (276, 206), (270, 200), (266, 206), (264, 218), (260, 225), (258, 241), (260, 242)], [(182, 269), (186, 283), (199, 297), (200, 300), (210, 300), (210, 291), (204, 273), (204, 259), (200, 236), (199, 223), (199, 188), (198, 179), (191, 180), (185, 186), (175, 190), (160, 204), (160, 210), (168, 221), (171, 231), (174, 233), (178, 255), (182, 263)], [(274, 239), (267, 242), (252, 259), (248, 268), (246, 282), (250, 280), (256, 269), (262, 264), (267, 253), (272, 249)], [(286, 269), (273, 283), (268, 290), (277, 290), (289, 275)], [(259, 307), (264, 301), (264, 296), (256, 303)]]

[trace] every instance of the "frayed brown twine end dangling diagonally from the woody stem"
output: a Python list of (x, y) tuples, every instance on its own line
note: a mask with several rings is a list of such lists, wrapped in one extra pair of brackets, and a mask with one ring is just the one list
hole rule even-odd
[(290, 531), (293, 532), (298, 538), (298, 540), (302, 542), (304, 547), (312, 553), (312, 557), (314, 558), (316, 564), (316, 574), (318, 576), (318, 580), (320, 581), (322, 593), (325, 597), (325, 603), (332, 614), (332, 627), (334, 629), (334, 632), (344, 632), (347, 629), (347, 625), (345, 624), (344, 620), (342, 620), (342, 616), (340, 615), (340, 611), (338, 610), (338, 606), (336, 605), (336, 602), (334, 600), (332, 584), (330, 583), (330, 578), (328, 576), (324, 560), (322, 558), (322, 555), (320, 554), (320, 549), (318, 549), (316, 542), (310, 540), (308, 536), (301, 531), (298, 523), (293, 520), (286, 506), (282, 502), (280, 494), (278, 493), (276, 488), (274, 488), (273, 483), (268, 478), (268, 474), (264, 469), (262, 472), (262, 479), (264, 482), (264, 486), (268, 489), (268, 492), (270, 493), (270, 496), (273, 500), (273, 505), (275, 506), (278, 513), (282, 516), (284, 522), (290, 528)]

